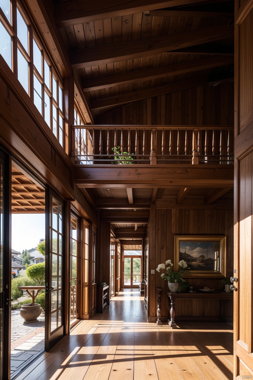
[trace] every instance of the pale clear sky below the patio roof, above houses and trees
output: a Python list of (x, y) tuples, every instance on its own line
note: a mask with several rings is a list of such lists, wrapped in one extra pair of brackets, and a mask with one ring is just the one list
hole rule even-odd
[(11, 248), (22, 252), (35, 248), (39, 239), (45, 239), (45, 214), (11, 215)]

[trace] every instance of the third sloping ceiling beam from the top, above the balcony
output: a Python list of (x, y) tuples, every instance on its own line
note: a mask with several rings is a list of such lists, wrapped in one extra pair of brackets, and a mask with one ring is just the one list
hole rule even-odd
[(83, 91), (99, 90), (110, 86), (119, 86), (126, 83), (148, 81), (150, 79), (166, 78), (171, 75), (189, 73), (191, 71), (229, 65), (234, 63), (234, 57), (218, 55), (217, 57), (198, 59), (195, 61), (176, 63), (148, 70), (132, 71), (117, 75), (109, 75), (100, 78), (87, 79), (83, 82)]

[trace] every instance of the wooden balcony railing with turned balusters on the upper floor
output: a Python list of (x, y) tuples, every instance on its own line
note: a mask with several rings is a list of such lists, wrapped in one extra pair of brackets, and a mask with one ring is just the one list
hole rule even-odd
[(73, 125), (79, 164), (230, 164), (232, 125)]

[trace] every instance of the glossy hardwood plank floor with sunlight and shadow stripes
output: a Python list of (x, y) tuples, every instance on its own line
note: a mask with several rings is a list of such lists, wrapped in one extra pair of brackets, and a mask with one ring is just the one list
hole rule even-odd
[(138, 289), (81, 321), (18, 380), (233, 379), (233, 328), (221, 323), (148, 323)]

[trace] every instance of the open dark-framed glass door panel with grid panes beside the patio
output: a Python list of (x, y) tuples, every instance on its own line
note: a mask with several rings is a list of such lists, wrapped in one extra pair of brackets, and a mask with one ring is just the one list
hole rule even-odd
[(46, 190), (46, 351), (64, 335), (63, 231), (64, 202), (51, 189)]

